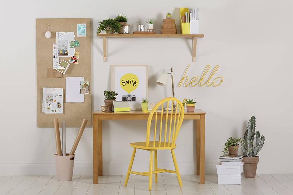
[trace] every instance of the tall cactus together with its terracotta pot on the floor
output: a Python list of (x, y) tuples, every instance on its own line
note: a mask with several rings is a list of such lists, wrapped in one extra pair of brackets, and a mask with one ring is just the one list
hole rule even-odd
[[(255, 143), (254, 143), (254, 137)], [(241, 148), (243, 152), (243, 160), (244, 163), (244, 176), (245, 177), (255, 177), (255, 173), (257, 170), (257, 163), (259, 160), (258, 153), (263, 147), (265, 142), (265, 137), (260, 136), (260, 132), (257, 131), (255, 133), (255, 116), (252, 116), (248, 122), (247, 130), (244, 133), (244, 137), (241, 143)]]

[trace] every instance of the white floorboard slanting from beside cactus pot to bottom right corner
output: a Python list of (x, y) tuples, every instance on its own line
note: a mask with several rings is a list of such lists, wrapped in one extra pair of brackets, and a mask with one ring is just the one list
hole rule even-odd
[(273, 176), (268, 174), (258, 174), (258, 176), (273, 188), (280, 195), (292, 195), (293, 192), (286, 188), (283, 184), (278, 182)]

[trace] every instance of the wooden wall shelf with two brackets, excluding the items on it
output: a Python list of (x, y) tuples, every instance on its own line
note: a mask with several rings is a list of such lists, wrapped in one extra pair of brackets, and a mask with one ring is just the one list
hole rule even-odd
[(196, 43), (197, 39), (203, 38), (204, 34), (198, 35), (168, 35), (168, 34), (97, 34), (98, 37), (103, 38), (103, 62), (107, 62), (107, 52), (106, 52), (106, 38), (187, 38), (192, 39), (192, 62), (195, 62), (196, 56)]

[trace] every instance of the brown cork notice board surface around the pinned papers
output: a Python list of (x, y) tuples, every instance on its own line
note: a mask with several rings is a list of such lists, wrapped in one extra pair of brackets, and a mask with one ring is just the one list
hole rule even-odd
[[(86, 23), (86, 37), (77, 36), (76, 24)], [(50, 25), (51, 38), (45, 37), (47, 24)], [(80, 52), (78, 64), (70, 64), (62, 78), (48, 78), (47, 69), (52, 68), (53, 44), (56, 43), (56, 32), (74, 32), (74, 40), (78, 40)], [(69, 62), (69, 57), (60, 57), (59, 61)], [(91, 87), (91, 19), (90, 18), (63, 18), (63, 19), (36, 19), (36, 63), (37, 63), (37, 121), (38, 127), (54, 127), (54, 118), (66, 122), (66, 127), (80, 127), (83, 119), (87, 119), (87, 127), (91, 127), (91, 89), (84, 95), (83, 103), (65, 102), (65, 77), (83, 76), (90, 82)], [(63, 114), (42, 113), (43, 87), (63, 88)]]

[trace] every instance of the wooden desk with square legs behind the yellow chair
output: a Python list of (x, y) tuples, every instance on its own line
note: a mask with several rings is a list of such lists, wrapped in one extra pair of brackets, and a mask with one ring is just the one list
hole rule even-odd
[[(131, 110), (129, 113), (93, 112), (93, 163), (94, 184), (98, 184), (98, 175), (103, 175), (103, 144), (102, 121), (103, 120), (147, 120), (149, 113), (141, 110)], [(166, 112), (163, 113), (163, 119)], [(153, 116), (155, 119), (155, 116)], [(196, 120), (196, 174), (199, 175), (199, 183), (205, 183), (205, 112), (196, 109), (194, 112), (184, 114), (186, 120)], [(127, 145), (128, 146), (128, 145)], [(126, 146), (125, 146), (126, 147)], [(126, 172), (126, 170), (125, 170)]]

